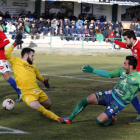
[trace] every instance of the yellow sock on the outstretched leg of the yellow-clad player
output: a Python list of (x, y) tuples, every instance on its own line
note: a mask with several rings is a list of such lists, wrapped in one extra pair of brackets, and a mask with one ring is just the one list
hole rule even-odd
[(55, 115), (53, 112), (45, 109), (44, 106), (40, 106), (37, 111), (41, 112), (44, 116), (52, 119), (52, 120), (55, 120), (55, 121), (58, 121), (57, 119), (59, 118), (57, 115)]

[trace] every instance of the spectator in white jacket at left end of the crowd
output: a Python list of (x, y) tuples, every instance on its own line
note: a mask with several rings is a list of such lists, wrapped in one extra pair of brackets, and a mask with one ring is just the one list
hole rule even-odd
[(16, 27), (15, 25), (12, 24), (12, 22), (10, 21), (7, 25), (6, 25), (6, 28), (7, 28), (7, 32), (9, 34), (12, 35), (12, 39), (15, 39), (15, 31), (16, 31)]

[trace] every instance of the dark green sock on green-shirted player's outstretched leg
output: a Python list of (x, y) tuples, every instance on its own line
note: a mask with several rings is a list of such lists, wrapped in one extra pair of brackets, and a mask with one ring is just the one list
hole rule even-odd
[(72, 121), (74, 117), (76, 117), (81, 111), (83, 111), (87, 105), (87, 98), (84, 98), (80, 103), (76, 105), (71, 115), (69, 116), (69, 120)]

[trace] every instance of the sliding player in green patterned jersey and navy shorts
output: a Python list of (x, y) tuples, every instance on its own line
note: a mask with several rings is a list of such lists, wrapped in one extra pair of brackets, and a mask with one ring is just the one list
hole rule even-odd
[(109, 125), (115, 121), (115, 116), (127, 104), (131, 103), (140, 88), (140, 74), (135, 70), (137, 60), (134, 56), (127, 56), (123, 68), (114, 71), (97, 70), (89, 65), (83, 67), (83, 72), (94, 73), (104, 77), (120, 77), (112, 90), (96, 92), (79, 102), (69, 117), (58, 118), (61, 123), (71, 123), (75, 116), (87, 105), (106, 105), (106, 110), (96, 118), (99, 125)]

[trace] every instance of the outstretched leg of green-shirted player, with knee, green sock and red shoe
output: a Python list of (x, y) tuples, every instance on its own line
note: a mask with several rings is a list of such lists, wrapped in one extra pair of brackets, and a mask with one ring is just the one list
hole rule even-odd
[(71, 123), (71, 121), (82, 112), (87, 105), (98, 104), (97, 98), (95, 94), (91, 94), (88, 97), (83, 98), (81, 102), (79, 102), (69, 117), (67, 118), (58, 118), (61, 123)]

